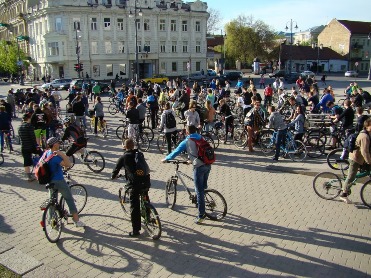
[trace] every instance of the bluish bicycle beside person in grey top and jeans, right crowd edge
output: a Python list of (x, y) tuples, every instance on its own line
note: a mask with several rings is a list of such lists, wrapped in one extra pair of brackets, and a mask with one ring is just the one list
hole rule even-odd
[[(276, 136), (277, 131), (273, 132), (269, 142), (262, 142), (260, 145), (264, 154), (273, 154), (276, 150)], [(283, 156), (289, 156), (292, 161), (303, 161), (307, 156), (307, 148), (303, 142), (294, 140), (294, 136), (290, 130), (287, 131), (285, 144), (280, 146)]]

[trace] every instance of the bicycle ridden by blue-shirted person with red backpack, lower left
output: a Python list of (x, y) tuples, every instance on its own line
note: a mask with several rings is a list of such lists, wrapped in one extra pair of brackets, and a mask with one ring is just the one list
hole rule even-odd
[[(67, 176), (67, 179), (70, 179), (68, 173), (65, 173), (65, 176)], [(69, 181), (67, 181), (67, 183), (69, 184)], [(79, 214), (85, 208), (88, 193), (86, 188), (81, 184), (69, 184), (69, 186), (77, 208), (77, 213)], [(61, 236), (63, 222), (66, 221), (67, 224), (69, 224), (68, 217), (72, 217), (72, 215), (65, 209), (66, 202), (63, 196), (61, 196), (58, 201), (58, 190), (54, 188), (54, 184), (48, 183), (45, 187), (48, 190), (52, 190), (52, 196), (40, 206), (40, 209), (44, 211), (40, 225), (48, 241), (56, 243)]]

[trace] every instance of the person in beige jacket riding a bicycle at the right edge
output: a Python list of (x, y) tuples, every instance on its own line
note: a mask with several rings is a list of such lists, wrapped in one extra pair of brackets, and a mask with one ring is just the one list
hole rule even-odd
[(351, 183), (354, 181), (358, 169), (365, 162), (368, 164), (367, 168), (370, 170), (371, 164), (371, 118), (364, 122), (363, 132), (360, 132), (356, 139), (356, 149), (349, 154), (349, 169), (348, 176), (343, 184), (340, 200), (347, 204), (351, 201), (348, 198), (348, 191)]

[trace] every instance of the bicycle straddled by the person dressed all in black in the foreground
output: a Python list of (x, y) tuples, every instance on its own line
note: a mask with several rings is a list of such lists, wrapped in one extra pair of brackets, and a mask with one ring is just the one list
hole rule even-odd
[[(155, 207), (149, 202), (147, 190), (140, 193), (140, 215), (142, 223), (146, 231), (150, 234), (152, 239), (159, 239), (161, 237), (161, 221)], [(119, 201), (122, 210), (130, 217), (130, 189), (125, 187), (119, 190)]]

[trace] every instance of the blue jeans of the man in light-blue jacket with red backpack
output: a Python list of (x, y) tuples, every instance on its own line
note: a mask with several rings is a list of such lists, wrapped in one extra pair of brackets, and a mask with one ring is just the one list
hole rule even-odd
[(193, 170), (199, 217), (202, 217), (205, 214), (205, 189), (207, 189), (207, 180), (209, 178), (210, 170), (211, 165), (202, 165)]

